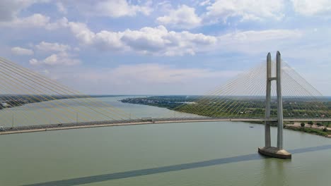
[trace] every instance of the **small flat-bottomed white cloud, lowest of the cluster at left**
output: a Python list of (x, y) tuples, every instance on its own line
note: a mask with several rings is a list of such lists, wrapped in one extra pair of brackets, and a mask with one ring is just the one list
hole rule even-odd
[(47, 58), (39, 61), (35, 58), (30, 59), (30, 65), (32, 66), (75, 66), (81, 63), (81, 61), (77, 58), (73, 58), (73, 56), (67, 54), (66, 52), (62, 51), (58, 54), (52, 54)]

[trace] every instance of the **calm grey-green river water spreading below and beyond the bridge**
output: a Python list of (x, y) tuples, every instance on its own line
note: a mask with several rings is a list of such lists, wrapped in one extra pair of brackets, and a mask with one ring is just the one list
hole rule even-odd
[[(167, 109), (122, 104), (118, 99), (98, 100), (108, 101), (138, 117), (169, 114)], [(19, 115), (17, 123), (23, 120)], [(11, 120), (8, 115), (2, 117)], [(42, 114), (33, 117), (40, 117), (36, 120), (41, 122), (47, 120)], [(276, 130), (272, 128), (273, 144)], [(331, 139), (284, 130), (284, 149), (293, 153), (291, 160), (257, 154), (263, 140), (263, 125), (242, 122), (169, 123), (1, 135), (0, 185), (331, 184)]]

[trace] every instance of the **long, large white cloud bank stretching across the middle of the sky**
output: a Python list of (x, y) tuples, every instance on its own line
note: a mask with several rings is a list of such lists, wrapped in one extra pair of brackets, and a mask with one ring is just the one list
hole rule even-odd
[(69, 22), (68, 27), (83, 44), (108, 51), (135, 51), (156, 56), (194, 55), (216, 43), (216, 37), (187, 31), (168, 31), (164, 26), (143, 27), (124, 32), (94, 33), (83, 23)]

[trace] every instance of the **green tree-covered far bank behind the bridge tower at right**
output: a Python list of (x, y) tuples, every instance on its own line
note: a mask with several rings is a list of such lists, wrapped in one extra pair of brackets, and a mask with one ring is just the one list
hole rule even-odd
[[(121, 100), (130, 104), (145, 104), (170, 110), (194, 113), (209, 117), (264, 117), (264, 97), (199, 97), (199, 96), (157, 96), (128, 98)], [(330, 118), (331, 101), (310, 100), (308, 98), (284, 98), (285, 118)], [(277, 116), (277, 101), (272, 101), (271, 116)]]

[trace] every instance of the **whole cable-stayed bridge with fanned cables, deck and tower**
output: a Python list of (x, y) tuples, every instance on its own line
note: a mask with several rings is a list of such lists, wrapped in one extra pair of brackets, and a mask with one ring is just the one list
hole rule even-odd
[(281, 61), (279, 52), (276, 61), (268, 54), (267, 63), (204, 96), (168, 101), (165, 107), (173, 111), (162, 116), (132, 116), (5, 58), (0, 58), (0, 86), (0, 134), (153, 123), (263, 121), (265, 147), (270, 147), (270, 125), (277, 123), (277, 149), (282, 149), (284, 121), (331, 121), (331, 101)]

